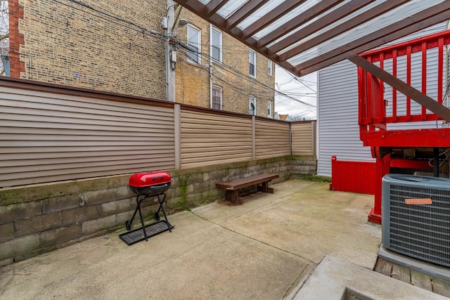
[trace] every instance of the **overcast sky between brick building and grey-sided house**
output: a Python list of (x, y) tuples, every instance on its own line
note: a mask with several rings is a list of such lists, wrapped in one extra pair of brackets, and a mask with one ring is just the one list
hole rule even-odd
[(304, 77), (294, 77), (282, 67), (275, 67), (275, 89), (285, 93), (289, 98), (275, 95), (275, 112), (279, 115), (290, 115), (305, 119), (316, 119), (317, 73), (307, 74)]

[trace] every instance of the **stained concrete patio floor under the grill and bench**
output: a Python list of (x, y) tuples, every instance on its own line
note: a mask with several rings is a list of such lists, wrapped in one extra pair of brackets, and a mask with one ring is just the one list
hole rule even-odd
[(326, 256), (373, 270), (373, 196), (272, 187), (172, 214), (172, 233), (148, 242), (128, 246), (123, 229), (0, 268), (0, 299), (293, 299)]

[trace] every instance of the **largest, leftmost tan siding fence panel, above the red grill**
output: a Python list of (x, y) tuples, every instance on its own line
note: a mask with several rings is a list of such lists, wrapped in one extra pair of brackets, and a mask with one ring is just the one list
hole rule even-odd
[(0, 186), (174, 169), (174, 108), (0, 87)]

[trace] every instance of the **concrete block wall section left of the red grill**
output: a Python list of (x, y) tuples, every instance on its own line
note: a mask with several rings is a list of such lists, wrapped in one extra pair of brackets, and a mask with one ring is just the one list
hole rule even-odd
[(0, 190), (0, 265), (104, 233), (129, 217), (129, 176)]

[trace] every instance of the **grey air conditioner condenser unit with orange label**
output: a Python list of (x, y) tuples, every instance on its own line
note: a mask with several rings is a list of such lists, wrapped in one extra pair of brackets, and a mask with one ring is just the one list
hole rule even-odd
[(388, 174), (383, 177), (383, 246), (450, 266), (450, 180)]

